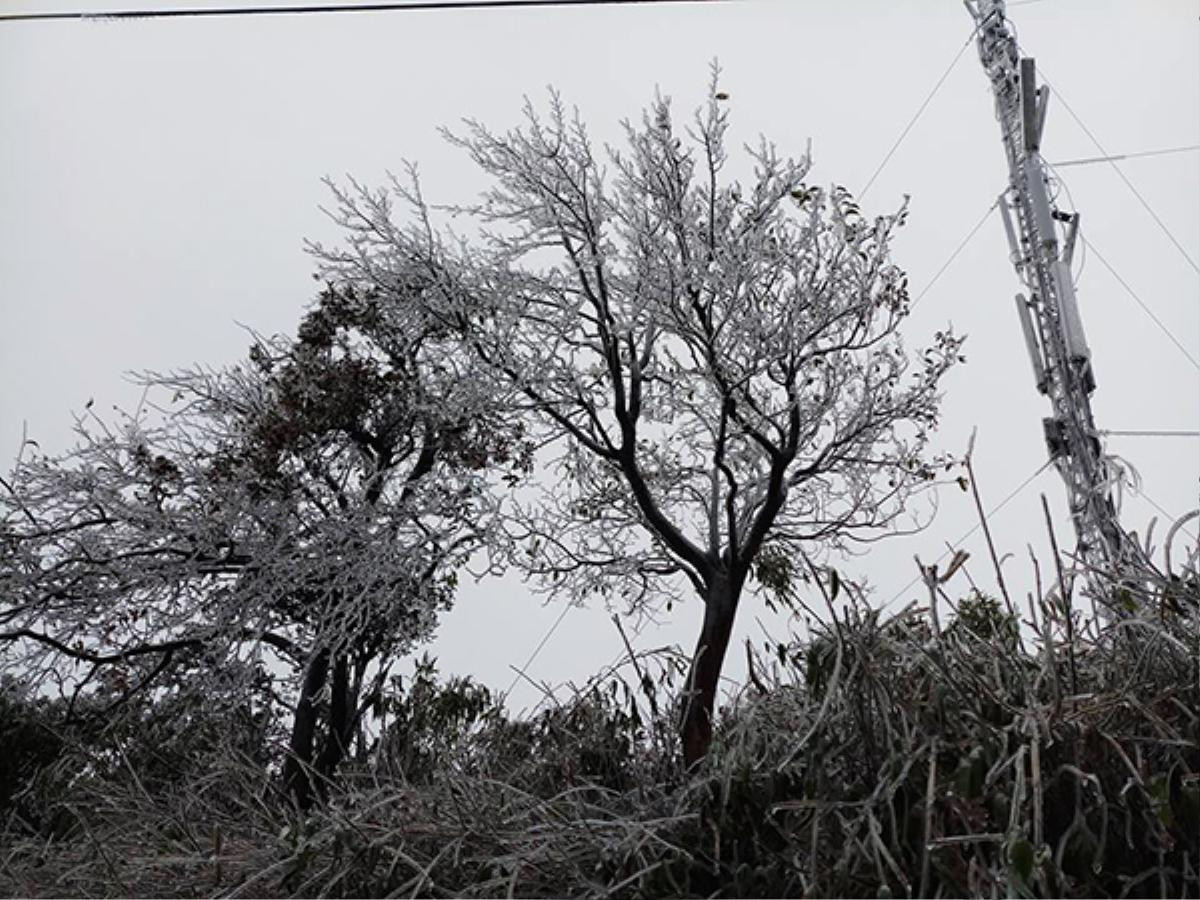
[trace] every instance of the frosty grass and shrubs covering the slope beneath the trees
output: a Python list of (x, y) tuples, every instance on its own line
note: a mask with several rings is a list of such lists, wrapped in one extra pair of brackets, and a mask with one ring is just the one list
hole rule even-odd
[(422, 666), (307, 814), (278, 802), (268, 722), (151, 706), (65, 731), (8, 692), (0, 890), (1195, 896), (1198, 592), (1169, 588), (1069, 642), (1040, 605), (1032, 643), (978, 594), (937, 636), (853, 596), (756, 659), (690, 773), (678, 659), (520, 720)]

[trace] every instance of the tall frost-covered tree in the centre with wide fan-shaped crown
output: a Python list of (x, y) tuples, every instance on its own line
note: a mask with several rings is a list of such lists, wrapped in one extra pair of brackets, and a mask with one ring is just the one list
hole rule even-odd
[[(478, 236), (436, 229), (415, 178), (394, 179), (340, 191), (348, 246), (317, 248), (325, 277), (457, 328), (539, 439), (559, 442), (547, 497), (515, 506), (527, 565), (576, 598), (702, 599), (689, 763), (710, 742), (748, 580), (778, 587), (799, 548), (904, 514), (931, 478), (938, 382), (960, 359), (949, 332), (916, 365), (902, 347), (889, 242), (905, 210), (866, 218), (766, 142), (746, 184), (730, 179), (715, 76), (712, 90), (684, 133), (656, 98), (602, 156), (553, 95), (505, 133), (468, 121), (448, 137), (494, 185), (454, 212)], [(412, 224), (394, 222), (392, 194)]]

